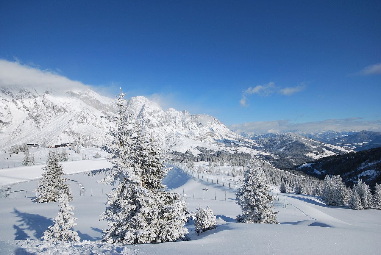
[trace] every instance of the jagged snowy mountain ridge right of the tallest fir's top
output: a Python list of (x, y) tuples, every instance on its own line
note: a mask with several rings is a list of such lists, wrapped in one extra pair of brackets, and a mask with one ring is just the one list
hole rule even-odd
[(259, 151), (248, 147), (261, 147), (253, 140), (232, 132), (209, 115), (191, 114), (173, 108), (164, 111), (155, 102), (141, 96), (132, 97), (127, 105), (133, 120), (141, 123), (147, 135), (154, 134), (165, 150), (190, 150), (193, 155), (198, 155), (200, 151), (195, 147), (257, 153)]

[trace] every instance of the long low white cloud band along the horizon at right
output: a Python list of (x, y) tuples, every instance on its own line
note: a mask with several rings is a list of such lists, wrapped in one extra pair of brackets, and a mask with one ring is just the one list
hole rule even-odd
[(381, 131), (381, 120), (361, 121), (360, 118), (330, 119), (305, 123), (290, 123), (289, 120), (257, 121), (232, 124), (229, 129), (248, 134), (267, 134), (274, 132), (318, 133), (323, 131)]

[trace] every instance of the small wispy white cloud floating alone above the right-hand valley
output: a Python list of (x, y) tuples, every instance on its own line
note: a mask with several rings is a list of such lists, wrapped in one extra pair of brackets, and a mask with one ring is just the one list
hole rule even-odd
[(275, 86), (275, 83), (271, 81), (264, 85), (257, 85), (255, 87), (247, 88), (245, 91), (242, 92), (242, 97), (239, 102), (241, 106), (247, 107), (249, 105), (247, 97), (253, 94), (257, 94), (258, 96), (270, 96), (273, 93), (278, 93), (284, 96), (291, 96), (297, 92), (304, 90), (305, 88), (306, 83), (304, 82), (295, 87), (280, 88)]

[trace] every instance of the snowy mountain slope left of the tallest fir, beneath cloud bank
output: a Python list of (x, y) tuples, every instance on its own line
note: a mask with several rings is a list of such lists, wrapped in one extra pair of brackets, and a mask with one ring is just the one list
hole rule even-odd
[(0, 87), (0, 148), (13, 144), (55, 145), (70, 140), (106, 142), (115, 101), (91, 89)]

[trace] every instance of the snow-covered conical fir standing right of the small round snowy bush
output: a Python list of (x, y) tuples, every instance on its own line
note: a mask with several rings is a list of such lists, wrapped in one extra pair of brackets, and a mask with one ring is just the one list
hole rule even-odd
[(257, 158), (251, 158), (245, 172), (242, 188), (238, 189), (237, 204), (242, 214), (237, 216), (237, 222), (243, 223), (279, 223), (278, 212), (274, 211), (274, 196), (268, 192), (269, 184), (263, 171), (263, 164)]

